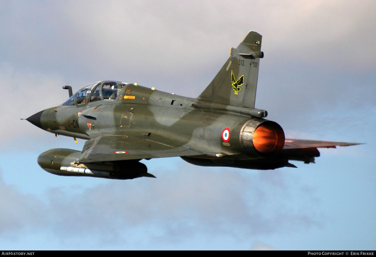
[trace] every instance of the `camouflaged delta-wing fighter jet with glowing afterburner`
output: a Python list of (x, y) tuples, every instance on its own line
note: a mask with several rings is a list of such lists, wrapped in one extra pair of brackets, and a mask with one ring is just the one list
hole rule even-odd
[[(27, 121), (53, 134), (86, 139), (82, 151), (51, 149), (38, 157), (45, 171), (116, 179), (154, 177), (142, 159), (180, 156), (200, 166), (243, 169), (314, 162), (317, 148), (356, 145), (285, 138), (266, 110), (255, 108), (262, 36), (249, 32), (197, 98), (101, 81)], [(77, 142), (77, 141), (76, 141)]]

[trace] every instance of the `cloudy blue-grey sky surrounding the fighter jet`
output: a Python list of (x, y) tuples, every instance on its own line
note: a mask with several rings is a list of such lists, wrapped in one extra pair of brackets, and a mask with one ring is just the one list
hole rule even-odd
[[(375, 249), (376, 3), (0, 2), (3, 249)], [(60, 177), (81, 150), (27, 118), (100, 80), (197, 97), (248, 31), (263, 36), (256, 108), (288, 137), (362, 142), (252, 171), (143, 160), (157, 179)]]

